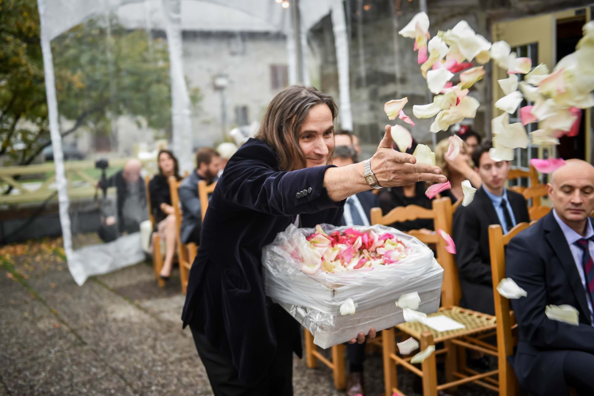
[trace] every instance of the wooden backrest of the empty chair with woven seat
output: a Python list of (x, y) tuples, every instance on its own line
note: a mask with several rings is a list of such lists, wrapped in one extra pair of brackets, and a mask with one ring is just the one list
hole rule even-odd
[[(448, 234), (451, 234), (452, 218), (453, 209), (451, 201), (447, 197), (433, 200), (432, 209), (422, 208), (422, 206), (417, 205), (399, 206), (390, 210), (385, 216), (382, 215), (380, 208), (371, 209), (371, 224), (389, 225), (394, 222), (415, 219), (433, 219), (434, 229), (438, 230), (441, 228)], [(423, 243), (435, 244), (437, 247), (436, 260), (444, 268), (441, 304), (443, 306), (457, 305), (462, 297), (458, 268), (456, 267), (454, 256), (445, 250), (444, 239), (437, 232), (424, 234), (418, 230), (410, 230), (406, 233)]]

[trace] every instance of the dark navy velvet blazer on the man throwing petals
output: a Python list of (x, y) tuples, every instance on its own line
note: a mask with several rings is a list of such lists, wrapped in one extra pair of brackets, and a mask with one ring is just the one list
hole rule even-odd
[(182, 312), (184, 327), (190, 323), (203, 332), (246, 385), (267, 372), (277, 337), (295, 337), (293, 350), (301, 355), (299, 323), (289, 320), (289, 328), (275, 329), (271, 322), (263, 246), (296, 215), (302, 227), (340, 225), (345, 203), (331, 200), (323, 187), (333, 165), (290, 172), (278, 166), (271, 147), (257, 139), (249, 139), (229, 159), (208, 203)]

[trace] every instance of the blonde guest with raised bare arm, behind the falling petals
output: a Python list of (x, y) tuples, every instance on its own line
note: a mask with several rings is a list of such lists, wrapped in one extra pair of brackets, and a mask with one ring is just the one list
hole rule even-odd
[(440, 194), (443, 197), (450, 197), (451, 202), (454, 203), (464, 196), (462, 193), (463, 181), (469, 180), (472, 187), (479, 188), (481, 187), (481, 177), (473, 169), (466, 143), (460, 147), (460, 154), (453, 160), (445, 158), (449, 145), (449, 139), (437, 143), (437, 146), (435, 146), (435, 164), (440, 166), (443, 174), (451, 183), (451, 189), (442, 191)]

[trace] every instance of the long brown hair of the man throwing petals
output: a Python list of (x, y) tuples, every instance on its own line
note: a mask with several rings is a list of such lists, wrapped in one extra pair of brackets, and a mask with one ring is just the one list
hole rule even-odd
[[(306, 159), (299, 146), (299, 129), (304, 124), (309, 110), (321, 103), (326, 104), (336, 118), (338, 108), (330, 95), (314, 87), (292, 85), (279, 92), (271, 100), (255, 138), (272, 147), (279, 159), (282, 171), (305, 168)], [(332, 153), (328, 155), (328, 163)]]

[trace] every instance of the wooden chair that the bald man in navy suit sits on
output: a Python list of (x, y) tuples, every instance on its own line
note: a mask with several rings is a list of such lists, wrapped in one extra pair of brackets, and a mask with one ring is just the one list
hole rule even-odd
[(513, 336), (513, 330), (517, 327), (516, 317), (510, 311), (510, 301), (497, 291), (497, 285), (501, 282), (501, 279), (505, 278), (504, 247), (510, 242), (511, 238), (526, 230), (535, 222), (517, 224), (505, 235), (501, 225), (489, 225), (489, 250), (491, 252), (495, 317), (497, 318), (497, 360), (500, 396), (514, 396), (518, 388), (514, 370), (510, 363), (507, 362), (507, 358), (513, 354), (513, 348), (516, 344), (516, 339)]

